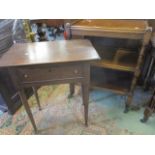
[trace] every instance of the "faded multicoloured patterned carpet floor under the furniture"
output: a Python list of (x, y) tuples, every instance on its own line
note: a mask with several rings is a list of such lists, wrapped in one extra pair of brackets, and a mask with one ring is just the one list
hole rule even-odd
[[(123, 113), (125, 97), (108, 91), (93, 90), (89, 101), (89, 126), (84, 126), (81, 89), (76, 86), (73, 98), (68, 98), (68, 85), (45, 86), (38, 91), (42, 111), (38, 110), (34, 96), (29, 99), (38, 134), (76, 135), (118, 135), (155, 134), (155, 117), (145, 124), (143, 108), (139, 111)], [(150, 97), (141, 89), (135, 92), (134, 103), (143, 105)], [(0, 134), (34, 134), (31, 123), (23, 108), (13, 116), (0, 116)]]

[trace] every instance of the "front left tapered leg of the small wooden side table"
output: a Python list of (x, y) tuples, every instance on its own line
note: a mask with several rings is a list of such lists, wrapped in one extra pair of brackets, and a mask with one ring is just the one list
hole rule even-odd
[(34, 131), (37, 132), (37, 127), (36, 127), (36, 124), (35, 124), (33, 115), (32, 115), (32, 113), (31, 113), (30, 107), (29, 107), (29, 105), (28, 105), (28, 102), (27, 102), (27, 99), (26, 99), (26, 95), (25, 95), (25, 91), (24, 91), (23, 88), (20, 89), (19, 95), (20, 95), (21, 101), (22, 101), (22, 103), (23, 103), (23, 105), (24, 105), (24, 107), (25, 107), (25, 110), (26, 110), (26, 112), (27, 112), (27, 114), (28, 114), (28, 116), (29, 116), (29, 119), (30, 119), (30, 121), (31, 121), (31, 123), (32, 123), (32, 126), (33, 126), (33, 128), (34, 128)]

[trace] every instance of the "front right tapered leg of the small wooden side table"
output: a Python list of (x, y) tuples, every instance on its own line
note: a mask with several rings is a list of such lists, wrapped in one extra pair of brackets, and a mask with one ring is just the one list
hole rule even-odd
[(82, 84), (85, 125), (88, 126), (89, 85)]

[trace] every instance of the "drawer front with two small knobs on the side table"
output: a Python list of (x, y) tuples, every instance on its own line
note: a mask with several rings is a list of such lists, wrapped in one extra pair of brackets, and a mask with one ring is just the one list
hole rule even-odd
[(16, 69), (20, 81), (24, 83), (82, 77), (83, 70), (81, 65), (36, 66)]

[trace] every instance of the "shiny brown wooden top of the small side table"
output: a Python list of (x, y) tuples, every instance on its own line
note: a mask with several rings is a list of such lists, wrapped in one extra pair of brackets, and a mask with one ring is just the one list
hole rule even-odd
[(92, 61), (99, 55), (85, 39), (17, 43), (0, 57), (0, 67)]

